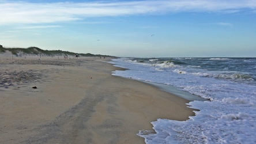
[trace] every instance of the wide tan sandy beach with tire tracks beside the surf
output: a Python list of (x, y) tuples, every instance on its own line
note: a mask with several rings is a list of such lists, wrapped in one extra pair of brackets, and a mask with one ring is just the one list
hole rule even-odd
[(1, 56), (0, 143), (145, 143), (137, 134), (150, 122), (194, 115), (189, 101), (101, 60)]

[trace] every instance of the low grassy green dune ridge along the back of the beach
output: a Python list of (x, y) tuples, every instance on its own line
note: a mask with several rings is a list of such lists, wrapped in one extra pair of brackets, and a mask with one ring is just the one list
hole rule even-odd
[(75, 52), (62, 51), (62, 50), (42, 50), (38, 47), (29, 47), (29, 48), (4, 48), (0, 45), (0, 53), (10, 51), (13, 55), (21, 56), (21, 55), (45, 55), (45, 56), (63, 56), (63, 55), (79, 55), (79, 56), (110, 56), (110, 55), (94, 55), (94, 54), (77, 54)]

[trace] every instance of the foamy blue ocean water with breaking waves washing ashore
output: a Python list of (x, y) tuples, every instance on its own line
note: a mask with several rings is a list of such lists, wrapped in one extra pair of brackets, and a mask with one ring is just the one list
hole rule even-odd
[(155, 132), (139, 131), (146, 143), (256, 143), (256, 58), (119, 58), (111, 63), (127, 69), (113, 75), (208, 99), (187, 98), (193, 100), (188, 107), (200, 110), (189, 120), (157, 119)]

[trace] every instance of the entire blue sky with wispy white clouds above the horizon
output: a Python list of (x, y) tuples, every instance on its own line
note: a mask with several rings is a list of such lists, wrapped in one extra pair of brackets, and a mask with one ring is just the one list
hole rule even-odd
[(0, 44), (121, 57), (256, 57), (256, 0), (0, 0)]

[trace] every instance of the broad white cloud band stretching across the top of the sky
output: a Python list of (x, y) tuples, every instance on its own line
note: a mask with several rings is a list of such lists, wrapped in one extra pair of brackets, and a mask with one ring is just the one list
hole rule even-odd
[(256, 9), (255, 0), (211, 1), (96, 1), (28, 3), (0, 1), (0, 24), (37, 24), (84, 20), (87, 17), (129, 16), (137, 14), (179, 12), (235, 13), (242, 9)]

